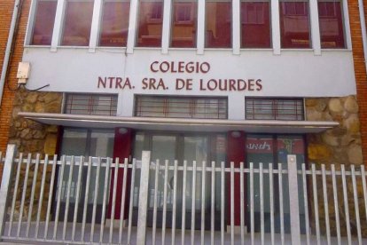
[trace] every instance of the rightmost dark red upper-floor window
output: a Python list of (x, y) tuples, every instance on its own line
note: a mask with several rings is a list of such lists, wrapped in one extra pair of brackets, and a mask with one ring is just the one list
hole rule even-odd
[(345, 48), (342, 4), (340, 0), (319, 0), (321, 48)]

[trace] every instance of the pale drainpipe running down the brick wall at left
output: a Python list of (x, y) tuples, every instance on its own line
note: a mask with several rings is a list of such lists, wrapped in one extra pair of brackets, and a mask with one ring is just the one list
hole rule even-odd
[(11, 24), (11, 28), (9, 30), (8, 43), (6, 44), (6, 50), (5, 50), (5, 55), (4, 55), (3, 70), (1, 72), (1, 77), (0, 77), (0, 106), (1, 106), (1, 102), (3, 100), (5, 78), (6, 78), (6, 74), (7, 74), (7, 71), (8, 71), (9, 58), (10, 58), (10, 55), (11, 55), (11, 52), (12, 52), (12, 40), (13, 40), (13, 37), (14, 37), (15, 28), (17, 26), (19, 8), (20, 8), (20, 0), (15, 0), (14, 11), (12, 12), (12, 24)]

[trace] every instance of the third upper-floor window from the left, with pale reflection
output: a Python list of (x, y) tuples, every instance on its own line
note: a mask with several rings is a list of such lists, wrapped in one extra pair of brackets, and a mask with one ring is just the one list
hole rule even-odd
[(129, 0), (105, 0), (100, 31), (100, 46), (126, 46), (129, 33)]

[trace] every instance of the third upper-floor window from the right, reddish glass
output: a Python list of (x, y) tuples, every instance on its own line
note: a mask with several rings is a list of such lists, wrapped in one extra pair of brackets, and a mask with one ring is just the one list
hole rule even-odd
[(269, 0), (242, 0), (241, 47), (270, 48)]

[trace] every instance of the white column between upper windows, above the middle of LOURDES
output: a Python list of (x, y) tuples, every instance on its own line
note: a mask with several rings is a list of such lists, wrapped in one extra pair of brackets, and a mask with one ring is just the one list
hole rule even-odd
[(241, 48), (241, 2), (232, 0), (232, 49), (233, 54), (239, 54)]

